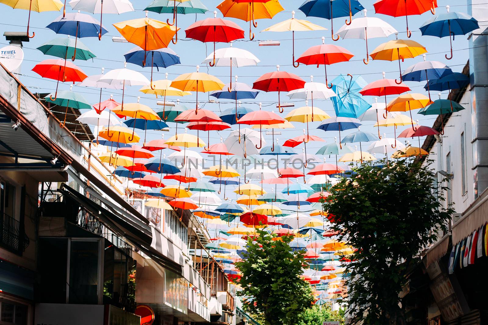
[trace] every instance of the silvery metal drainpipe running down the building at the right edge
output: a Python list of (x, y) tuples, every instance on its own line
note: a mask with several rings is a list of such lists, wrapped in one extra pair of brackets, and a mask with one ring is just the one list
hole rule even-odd
[[(468, 0), (468, 14), (480, 22), (488, 20), (486, 0)], [(469, 78), (473, 149), (473, 194), (488, 188), (488, 30), (481, 27), (469, 37)]]

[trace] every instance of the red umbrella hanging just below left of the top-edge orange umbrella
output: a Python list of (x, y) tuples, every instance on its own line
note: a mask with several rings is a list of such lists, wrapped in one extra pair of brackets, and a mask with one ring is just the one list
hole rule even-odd
[(199, 20), (190, 25), (186, 30), (186, 37), (199, 40), (201, 42), (214, 43), (214, 58), (210, 66), (215, 65), (215, 43), (231, 42), (233, 40), (244, 38), (244, 29), (230, 20), (217, 18), (217, 11), (214, 11), (214, 18)]

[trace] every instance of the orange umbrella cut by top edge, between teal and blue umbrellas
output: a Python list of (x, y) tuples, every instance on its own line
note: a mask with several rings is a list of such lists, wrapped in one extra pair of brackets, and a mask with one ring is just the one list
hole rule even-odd
[(254, 39), (251, 24), (258, 27), (255, 19), (272, 19), (277, 13), (285, 10), (279, 0), (270, 0), (267, 2), (249, 1), (237, 2), (234, 0), (224, 0), (217, 6), (224, 17), (232, 17), (249, 21), (249, 39)]

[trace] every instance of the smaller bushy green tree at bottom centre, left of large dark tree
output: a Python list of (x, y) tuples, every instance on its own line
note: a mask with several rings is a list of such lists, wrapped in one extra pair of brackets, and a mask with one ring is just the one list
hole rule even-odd
[(236, 263), (243, 287), (237, 294), (243, 297), (244, 309), (264, 324), (291, 324), (313, 301), (310, 285), (300, 277), (307, 265), (305, 252), (291, 249), (292, 236), (273, 240), (275, 235), (259, 229), (257, 234), (255, 241), (247, 241), (244, 261)]

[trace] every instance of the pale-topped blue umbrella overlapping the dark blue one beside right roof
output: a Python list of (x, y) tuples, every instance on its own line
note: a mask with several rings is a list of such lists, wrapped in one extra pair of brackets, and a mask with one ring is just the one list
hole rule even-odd
[(430, 99), (430, 88), (428, 84), (429, 79), (440, 79), (444, 76), (452, 74), (451, 68), (439, 61), (426, 61), (424, 54), (424, 61), (409, 66), (403, 73), (402, 80), (404, 81), (427, 81), (428, 98)]

